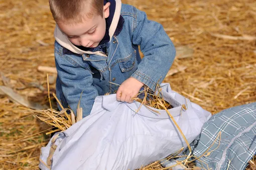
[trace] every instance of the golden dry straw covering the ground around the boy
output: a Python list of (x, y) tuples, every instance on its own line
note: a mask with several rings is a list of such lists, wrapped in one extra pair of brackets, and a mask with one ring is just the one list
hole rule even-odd
[[(176, 59), (172, 67), (176, 74), (165, 79), (174, 90), (212, 113), (256, 101), (254, 0), (123, 3), (163, 24), (176, 47), (194, 50), (192, 57)], [(48, 1), (0, 0), (0, 20), (0, 85), (47, 104), (46, 72), (37, 68), (54, 67), (55, 24)], [(13, 101), (0, 95), (0, 169), (38, 169), (40, 148), (49, 136), (30, 135), (49, 127), (35, 117), (25, 117), (28, 113)]]

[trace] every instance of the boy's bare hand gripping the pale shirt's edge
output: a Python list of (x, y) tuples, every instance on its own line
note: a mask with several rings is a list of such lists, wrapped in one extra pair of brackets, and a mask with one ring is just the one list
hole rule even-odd
[(132, 98), (137, 95), (144, 84), (139, 80), (130, 77), (125, 80), (117, 90), (116, 100), (132, 103)]

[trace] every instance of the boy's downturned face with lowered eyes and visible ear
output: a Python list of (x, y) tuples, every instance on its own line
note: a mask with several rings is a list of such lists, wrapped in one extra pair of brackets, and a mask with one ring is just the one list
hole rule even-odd
[(95, 48), (103, 39), (106, 31), (105, 18), (109, 16), (109, 3), (103, 7), (103, 17), (94, 15), (92, 18), (85, 18), (81, 23), (65, 24), (58, 22), (60, 30), (66, 34), (69, 41), (74, 45), (87, 48)]

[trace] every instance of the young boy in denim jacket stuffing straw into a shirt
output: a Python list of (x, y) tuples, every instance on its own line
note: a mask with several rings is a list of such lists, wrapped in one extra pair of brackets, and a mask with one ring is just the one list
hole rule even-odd
[(155, 91), (165, 78), (175, 48), (162, 25), (149, 21), (144, 12), (120, 0), (49, 4), (56, 21), (56, 94), (64, 107), (75, 111), (82, 93), (85, 117), (99, 95), (117, 90), (118, 101), (131, 103), (144, 85)]

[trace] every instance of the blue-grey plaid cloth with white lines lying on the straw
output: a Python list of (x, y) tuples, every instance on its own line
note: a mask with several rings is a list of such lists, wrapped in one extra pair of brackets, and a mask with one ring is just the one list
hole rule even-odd
[(196, 166), (214, 170), (245, 169), (256, 153), (256, 102), (213, 115), (191, 145), (195, 156), (205, 153), (196, 160)]

